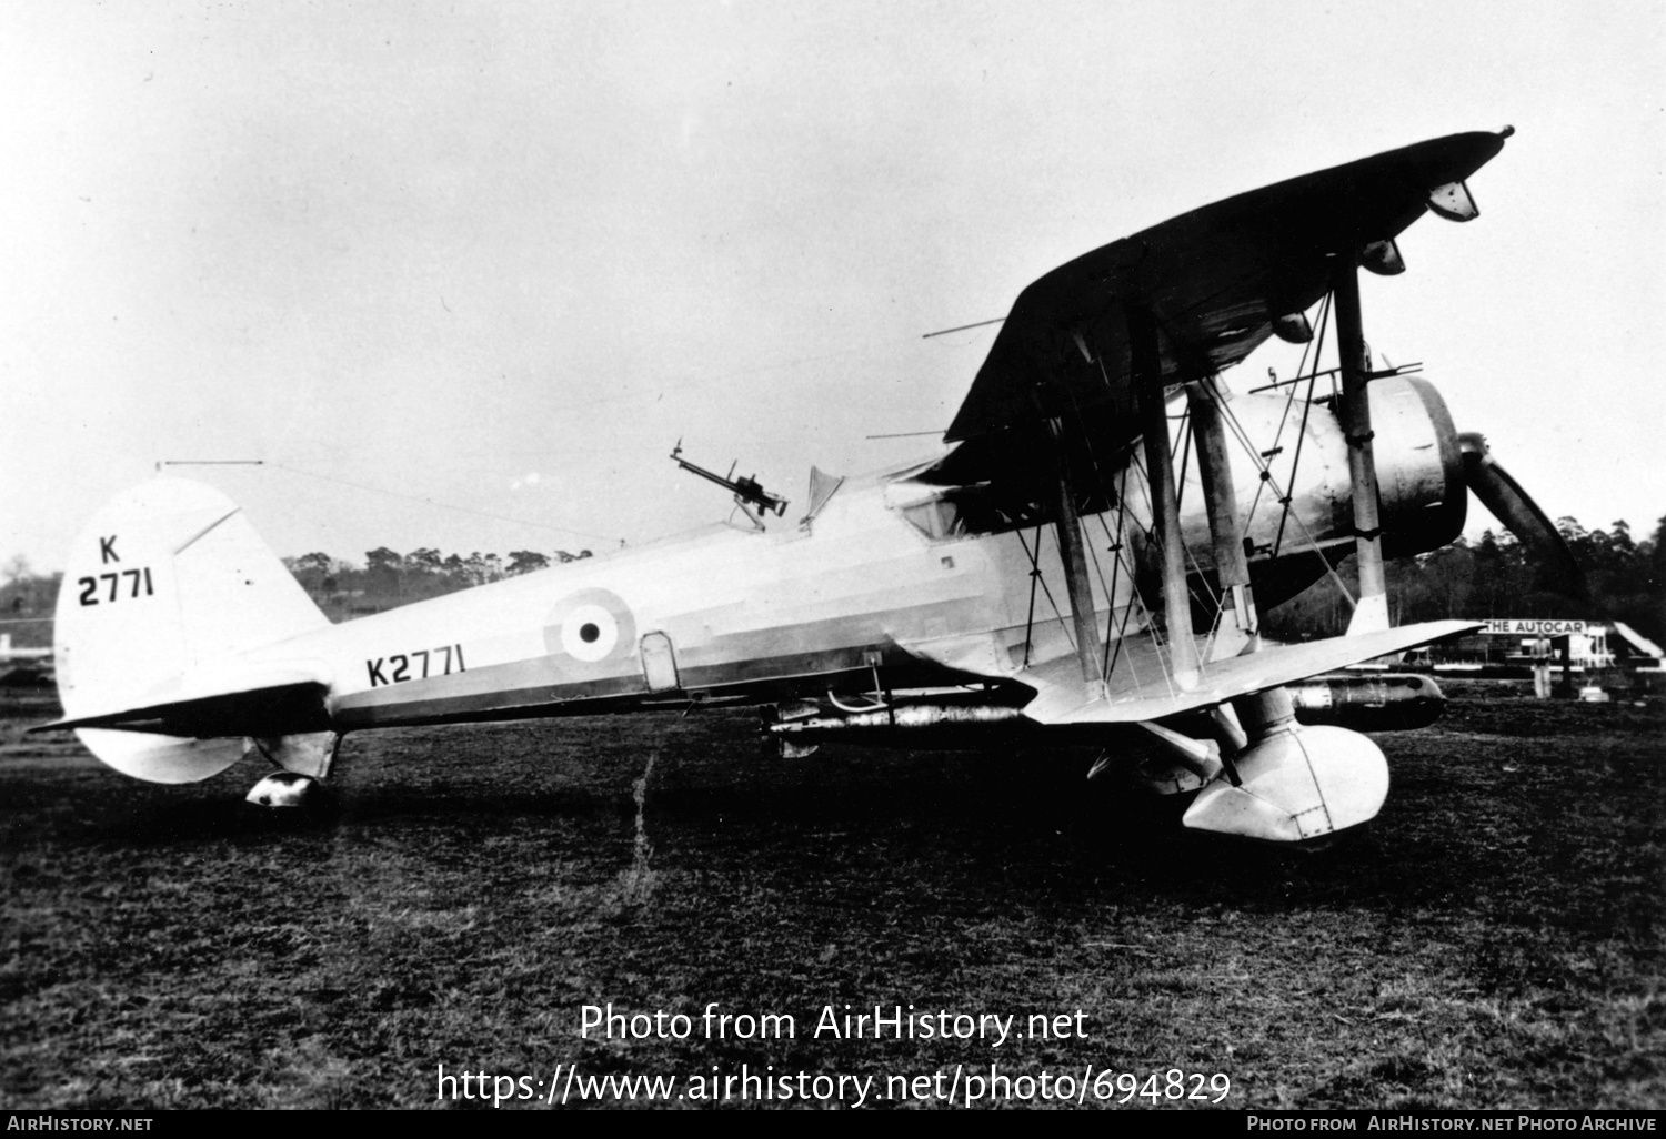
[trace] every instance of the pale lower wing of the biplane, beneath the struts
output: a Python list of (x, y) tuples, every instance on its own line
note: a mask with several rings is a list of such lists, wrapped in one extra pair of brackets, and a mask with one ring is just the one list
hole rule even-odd
[(1081, 666), (1075, 656), (1026, 669), (1015, 679), (1036, 689), (1025, 716), (1041, 724), (1126, 724), (1163, 719), (1180, 713), (1223, 704), (1236, 696), (1291, 684), (1319, 673), (1404, 653), (1419, 644), (1481, 628), (1474, 621), (1428, 621), (1359, 636), (1334, 636), (1306, 644), (1278, 644), (1211, 661), (1195, 688), (1181, 689), (1168, 674), (1133, 688), (1113, 691), (1105, 699), (1088, 699)]

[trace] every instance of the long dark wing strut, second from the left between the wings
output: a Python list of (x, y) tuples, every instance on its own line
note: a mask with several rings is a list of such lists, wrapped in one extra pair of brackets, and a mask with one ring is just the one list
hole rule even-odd
[(1186, 548), (1180, 538), (1180, 500), (1175, 496), (1175, 465), (1168, 448), (1168, 406), (1163, 401), (1163, 356), (1156, 321), (1150, 313), (1128, 310), (1128, 345), (1135, 378), (1140, 431), (1145, 435), (1146, 481), (1151, 485), (1151, 516), (1156, 543), (1163, 551), (1163, 618), (1168, 623), (1170, 673), (1183, 691), (1198, 686), (1198, 646), (1191, 633), (1191, 594), (1186, 591)]

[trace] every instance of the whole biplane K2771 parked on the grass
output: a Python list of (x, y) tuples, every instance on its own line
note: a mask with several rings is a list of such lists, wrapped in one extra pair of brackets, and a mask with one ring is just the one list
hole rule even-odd
[[(1383, 726), (1389, 696), (1414, 713), (1438, 693), (1336, 678), (1314, 699), (1309, 678), (1476, 628), (1393, 628), (1384, 558), (1456, 538), (1466, 483), (1554, 541), (1426, 380), (1373, 366), (1359, 313), (1358, 271), (1399, 273), (1394, 238), (1424, 213), (1473, 218), (1466, 180), (1509, 133), (1281, 182), (1046, 273), (951, 450), (811, 470), (801, 518), (755, 480), (698, 471), (736, 491), (745, 526), (332, 624), (232, 501), (150, 481), (72, 551), (65, 716), (47, 728), (157, 783), (253, 748), (280, 771), (250, 799), (288, 804), (352, 731), (751, 703), (783, 754), (1100, 744), (1143, 756), (1151, 789), (1195, 794), (1193, 828), (1301, 843), (1364, 823), (1388, 764), (1354, 728)], [(1304, 398), (1221, 380), (1269, 336), (1318, 348), (1333, 323), (1338, 365), (1321, 373), (1314, 351)], [(1261, 609), (1348, 553), (1346, 636), (1263, 639)]]

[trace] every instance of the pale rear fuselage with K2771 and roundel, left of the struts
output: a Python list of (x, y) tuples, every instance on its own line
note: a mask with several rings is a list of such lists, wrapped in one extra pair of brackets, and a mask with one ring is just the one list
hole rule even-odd
[(928, 536), (905, 511), (910, 496), (933, 495), (885, 475), (853, 478), (798, 525), (711, 526), (318, 629), (260, 656), (323, 663), (340, 729), (871, 689), (876, 669), (898, 686), (1011, 673), (998, 638), (1025, 621), (1008, 588), (1028, 581), (1023, 543), (1016, 533)]

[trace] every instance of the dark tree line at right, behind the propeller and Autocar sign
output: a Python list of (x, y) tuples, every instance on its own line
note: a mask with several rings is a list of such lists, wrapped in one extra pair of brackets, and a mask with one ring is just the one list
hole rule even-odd
[[(1584, 593), (1558, 583), (1554, 570), (1509, 533), (1491, 530), (1416, 558), (1388, 563), (1388, 599), (1394, 624), (1446, 618), (1569, 618), (1624, 621), (1666, 643), (1666, 518), (1636, 541), (1624, 521), (1586, 530), (1573, 518), (1556, 523), (1584, 571)], [(1353, 558), (1339, 576), (1358, 594)], [(1279, 639), (1334, 636), (1348, 624), (1349, 604), (1326, 578), (1268, 614)]]

